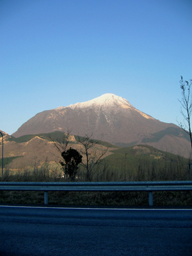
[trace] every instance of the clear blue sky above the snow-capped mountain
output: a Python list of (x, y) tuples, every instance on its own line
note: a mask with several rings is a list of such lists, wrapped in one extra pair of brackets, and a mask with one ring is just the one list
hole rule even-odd
[(0, 129), (41, 111), (114, 93), (182, 121), (192, 79), (191, 0), (1, 0)]

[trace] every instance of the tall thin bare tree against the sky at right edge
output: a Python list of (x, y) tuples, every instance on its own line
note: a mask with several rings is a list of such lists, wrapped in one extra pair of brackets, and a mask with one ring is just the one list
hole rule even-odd
[(189, 81), (184, 81), (182, 76), (180, 76), (180, 89), (182, 99), (179, 100), (181, 104), (180, 113), (184, 117), (184, 122), (179, 122), (180, 128), (187, 132), (191, 141), (191, 150), (192, 150), (192, 134), (191, 134), (191, 113), (192, 113), (192, 95), (191, 95), (191, 84), (192, 79)]

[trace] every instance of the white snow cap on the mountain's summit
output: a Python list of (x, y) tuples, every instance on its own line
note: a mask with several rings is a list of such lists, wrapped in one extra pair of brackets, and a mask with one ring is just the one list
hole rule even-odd
[(125, 100), (122, 97), (116, 96), (113, 93), (106, 93), (101, 95), (100, 97), (97, 97), (92, 100), (88, 100), (86, 102), (76, 103), (72, 104), (68, 107), (75, 109), (75, 108), (90, 108), (90, 107), (101, 107), (101, 106), (108, 106), (108, 107), (114, 107), (114, 106), (121, 106), (122, 108), (131, 108), (131, 104), (129, 104), (128, 100)]

